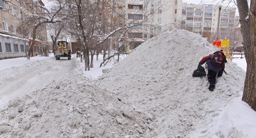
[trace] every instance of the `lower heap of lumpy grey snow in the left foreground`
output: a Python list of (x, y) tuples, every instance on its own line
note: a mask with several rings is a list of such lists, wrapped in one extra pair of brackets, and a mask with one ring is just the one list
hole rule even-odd
[(1, 136), (137, 137), (147, 130), (145, 121), (152, 114), (134, 110), (90, 81), (79, 79), (52, 82), (10, 100), (0, 113)]

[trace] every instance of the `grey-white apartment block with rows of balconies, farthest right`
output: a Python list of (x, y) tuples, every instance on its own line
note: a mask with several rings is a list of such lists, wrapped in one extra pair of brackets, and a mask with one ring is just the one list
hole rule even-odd
[[(220, 27), (218, 17), (220, 11)], [(236, 8), (214, 4), (188, 4), (182, 3), (182, 29), (200, 33), (212, 42), (216, 37), (222, 39), (232, 38), (235, 22)], [(216, 34), (218, 33), (218, 34)]]

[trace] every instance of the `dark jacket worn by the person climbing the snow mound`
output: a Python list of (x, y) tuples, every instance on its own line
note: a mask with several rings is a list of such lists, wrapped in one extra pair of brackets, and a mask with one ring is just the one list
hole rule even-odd
[[(220, 52), (220, 51), (217, 51), (217, 52)], [(216, 53), (216, 52), (214, 52), (214, 54), (215, 54), (215, 53)], [(206, 63), (208, 70), (212, 70), (212, 71), (214, 71), (214, 72), (216, 72), (216, 73), (219, 73), (218, 75), (221, 76), (222, 73), (223, 73), (223, 70), (224, 70), (224, 68), (225, 68), (225, 64), (223, 64), (222, 67), (218, 67), (218, 66), (212, 65), (212, 63), (211, 63), (211, 58), (212, 58), (212, 56), (214, 56), (214, 54), (210, 54), (209, 56), (203, 57), (203, 58), (201, 59), (201, 61), (199, 62), (199, 64), (200, 64), (200, 65), (203, 65), (204, 63)], [(225, 54), (224, 54), (223, 52), (221, 52), (221, 54), (225, 57), (225, 63), (227, 63)]]

